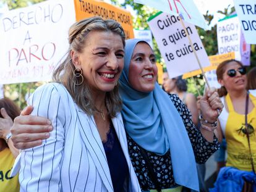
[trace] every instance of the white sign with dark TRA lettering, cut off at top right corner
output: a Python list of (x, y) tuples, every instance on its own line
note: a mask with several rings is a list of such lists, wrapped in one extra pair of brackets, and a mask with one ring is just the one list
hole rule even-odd
[(234, 0), (245, 41), (256, 44), (256, 0)]

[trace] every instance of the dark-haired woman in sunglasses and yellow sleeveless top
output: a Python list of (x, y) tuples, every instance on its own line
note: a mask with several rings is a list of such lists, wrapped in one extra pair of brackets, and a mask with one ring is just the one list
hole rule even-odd
[[(253, 158), (256, 156), (256, 134), (254, 133), (256, 97), (246, 90), (246, 69), (241, 62), (224, 61), (218, 65), (216, 74), (218, 82), (221, 84), (218, 93), (224, 104), (223, 112), (219, 117), (222, 130), (220, 134), (226, 138), (228, 151), (227, 167), (221, 169), (217, 179), (218, 183), (221, 177), (230, 171), (233, 172), (237, 169), (245, 171), (236, 172), (237, 175), (240, 175), (240, 173), (247, 174), (254, 170), (256, 164), (256, 158)], [(245, 116), (248, 123), (247, 129), (245, 128)], [(236, 169), (231, 169), (231, 167)], [(243, 183), (242, 177), (241, 182)], [(227, 187), (231, 188), (231, 186)], [(240, 187), (242, 189), (242, 186)]]

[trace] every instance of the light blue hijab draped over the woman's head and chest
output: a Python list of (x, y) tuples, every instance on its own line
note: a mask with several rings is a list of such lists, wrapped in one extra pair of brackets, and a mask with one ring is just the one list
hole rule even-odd
[(127, 134), (147, 151), (163, 155), (170, 149), (174, 180), (198, 191), (195, 156), (184, 123), (173, 102), (158, 85), (150, 93), (134, 90), (128, 80), (129, 64), (137, 43), (127, 40), (124, 70), (119, 78), (122, 115)]

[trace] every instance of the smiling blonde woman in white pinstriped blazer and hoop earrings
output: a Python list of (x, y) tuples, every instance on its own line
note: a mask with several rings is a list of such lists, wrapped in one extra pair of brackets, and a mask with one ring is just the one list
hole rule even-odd
[(54, 71), (55, 82), (28, 101), (32, 115), (51, 120), (53, 131), (40, 146), (22, 151), (20, 191), (140, 191), (116, 86), (124, 38), (119, 23), (100, 17), (70, 27), (69, 52)]

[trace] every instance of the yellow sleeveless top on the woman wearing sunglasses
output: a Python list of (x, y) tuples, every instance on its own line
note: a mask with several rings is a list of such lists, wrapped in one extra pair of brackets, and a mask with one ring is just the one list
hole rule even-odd
[[(252, 157), (254, 159), (254, 168), (256, 169), (256, 98), (249, 94), (250, 100), (254, 104), (254, 109), (247, 114), (249, 124), (249, 138)], [(245, 134), (245, 115), (234, 111), (233, 103), (229, 94), (226, 96), (229, 115), (226, 123), (225, 135), (228, 149), (227, 166), (236, 167), (239, 170), (252, 170), (250, 161), (250, 152), (247, 136)]]

